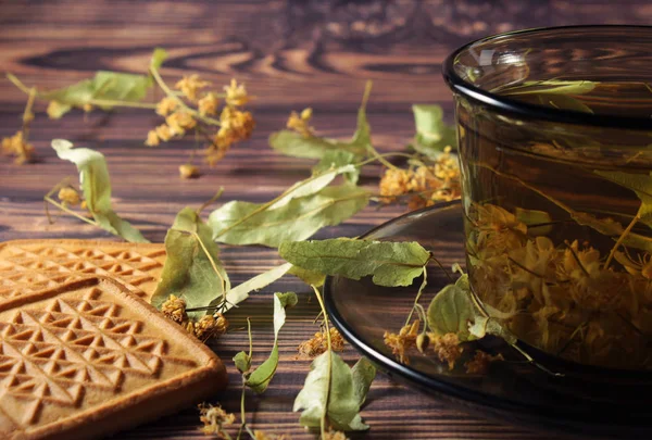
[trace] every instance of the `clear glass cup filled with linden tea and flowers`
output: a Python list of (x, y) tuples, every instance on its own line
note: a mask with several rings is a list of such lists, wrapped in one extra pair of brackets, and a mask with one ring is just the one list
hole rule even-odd
[(514, 32), (452, 53), (471, 286), (523, 342), (652, 368), (652, 27)]

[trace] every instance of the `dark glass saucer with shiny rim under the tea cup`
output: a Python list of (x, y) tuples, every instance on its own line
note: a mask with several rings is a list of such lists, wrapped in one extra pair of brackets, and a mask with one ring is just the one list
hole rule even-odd
[[(363, 238), (418, 241), (432, 251), (444, 267), (464, 263), (459, 201), (400, 216)], [(427, 307), (447, 284), (449, 280), (442, 271), (431, 265), (421, 304)], [(569, 368), (570, 374), (554, 377), (524, 362), (524, 357), (503, 341), (490, 338), (465, 348), (467, 355), (480, 348), (503, 354), (506, 362), (492, 363), (485, 375), (466, 374), (464, 367), (449, 372), (447, 365), (417, 352), (410, 356), (409, 365), (397, 362), (384, 343), (384, 332), (398, 332), (405, 324), (419, 285), (421, 279), (416, 279), (408, 288), (385, 288), (375, 286), (368, 278), (355, 281), (329, 277), (324, 294), (326, 309), (342, 336), (380, 370), (416, 390), (446, 399), (461, 410), (567, 436), (652, 438), (649, 375), (623, 370), (595, 375), (590, 368), (586, 374), (581, 368), (579, 373)]]

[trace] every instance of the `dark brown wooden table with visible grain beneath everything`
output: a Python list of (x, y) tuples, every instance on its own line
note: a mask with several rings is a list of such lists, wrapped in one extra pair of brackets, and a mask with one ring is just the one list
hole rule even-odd
[[(199, 179), (181, 180), (192, 141), (155, 149), (142, 144), (159, 123), (149, 111), (120, 111), (88, 116), (73, 112), (61, 121), (39, 113), (32, 140), (38, 163), (16, 166), (0, 162), (0, 240), (16, 238), (113, 237), (64, 216), (49, 225), (42, 197), (74, 166), (57, 159), (49, 143), (67, 138), (102, 151), (113, 180), (116, 211), (152, 241), (162, 241), (175, 214), (198, 206), (217, 188), (223, 200), (265, 201), (309, 176), (311, 161), (275, 153), (266, 138), (285, 125), (290, 110), (312, 106), (321, 134), (349, 137), (365, 79), (374, 80), (369, 121), (383, 151), (399, 150), (413, 134), (410, 104), (441, 103), (451, 120), (451, 93), (440, 77), (440, 63), (455, 47), (484, 35), (514, 28), (574, 23), (648, 24), (652, 8), (644, 0), (628, 7), (592, 1), (5, 1), (0, 3), (0, 66), (28, 85), (53, 88), (92, 75), (97, 70), (143, 72), (151, 49), (170, 51), (164, 76), (170, 80), (197, 72), (213, 84), (231, 77), (247, 83), (258, 99), (253, 138), (234, 148)], [(0, 81), (0, 135), (20, 127), (25, 96)], [(42, 108), (39, 108), (42, 110)], [(377, 185), (380, 168), (364, 175)], [(366, 209), (344, 225), (318, 238), (356, 236), (400, 213), (402, 208)], [(235, 284), (280, 260), (275, 250), (222, 247)], [(254, 429), (314, 438), (298, 424), (292, 402), (303, 385), (310, 361), (297, 357), (297, 345), (317, 330), (316, 301), (306, 286), (288, 278), (254, 294), (230, 316), (231, 328), (251, 317), (254, 365), (271, 350), (272, 293), (296, 290), (300, 303), (290, 311), (280, 338), (280, 366), (268, 391), (248, 394), (248, 422)], [(237, 331), (211, 343), (230, 372), (230, 385), (216, 395), (229, 412), (238, 412), (240, 378), (230, 359), (246, 347)], [(346, 359), (356, 353), (346, 351)], [(457, 412), (379, 375), (363, 410), (367, 439), (543, 439), (512, 426)], [(176, 416), (117, 436), (121, 439), (201, 437), (198, 413)]]

